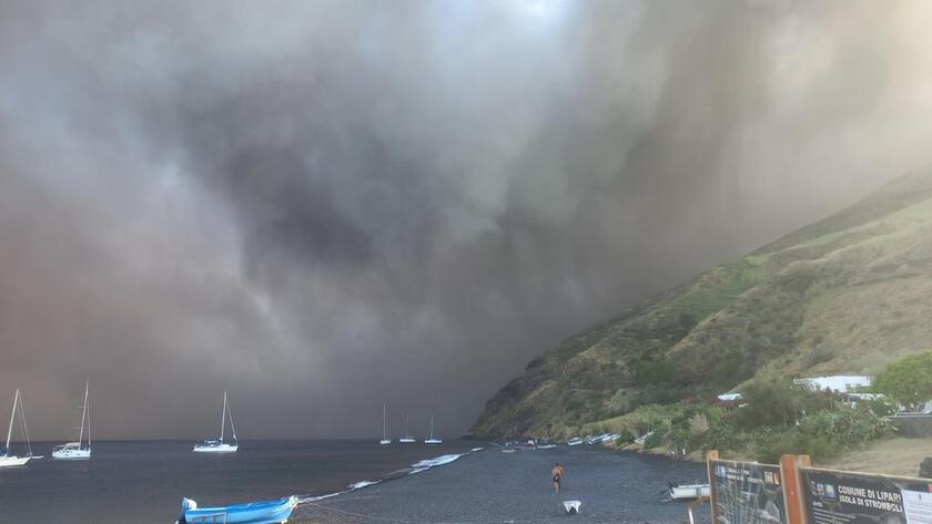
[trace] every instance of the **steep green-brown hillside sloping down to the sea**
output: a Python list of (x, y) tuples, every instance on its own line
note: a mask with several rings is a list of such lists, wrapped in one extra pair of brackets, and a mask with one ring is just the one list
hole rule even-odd
[(478, 438), (566, 438), (763, 376), (873, 373), (932, 347), (932, 173), (602, 320), (486, 403)]

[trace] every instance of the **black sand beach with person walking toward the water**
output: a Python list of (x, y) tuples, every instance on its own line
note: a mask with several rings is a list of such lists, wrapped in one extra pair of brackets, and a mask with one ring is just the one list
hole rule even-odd
[[(549, 472), (566, 465), (560, 494)], [(705, 482), (703, 464), (588, 446), (502, 453), (500, 448), (313, 504), (291, 522), (301, 524), (403, 523), (682, 523), (686, 504), (662, 502), (667, 483)], [(563, 501), (582, 502), (567, 515)], [(708, 504), (697, 505), (709, 523)]]

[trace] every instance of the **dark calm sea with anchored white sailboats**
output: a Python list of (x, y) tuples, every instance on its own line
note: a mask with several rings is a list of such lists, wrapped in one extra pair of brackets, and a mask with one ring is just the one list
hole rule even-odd
[(323, 495), (477, 443), (241, 441), (230, 455), (193, 453), (192, 445), (94, 442), (93, 459), (79, 462), (53, 461), (51, 444), (33, 445), (45, 459), (0, 469), (0, 524), (173, 523), (182, 496), (219, 505)]

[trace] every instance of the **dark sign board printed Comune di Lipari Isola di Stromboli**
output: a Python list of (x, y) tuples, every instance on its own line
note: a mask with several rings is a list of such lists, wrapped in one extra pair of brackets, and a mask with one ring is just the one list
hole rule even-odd
[(932, 481), (800, 469), (809, 524), (932, 524)]

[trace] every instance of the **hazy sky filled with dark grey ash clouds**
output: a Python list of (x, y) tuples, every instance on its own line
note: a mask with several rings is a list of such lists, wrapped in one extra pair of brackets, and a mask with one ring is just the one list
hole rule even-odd
[[(932, 3), (0, 0), (0, 417), (463, 433), (586, 325), (932, 163)], [(0, 420), (3, 420), (0, 418)], [(6, 427), (3, 427), (6, 429)]]

